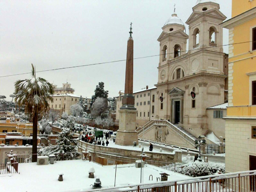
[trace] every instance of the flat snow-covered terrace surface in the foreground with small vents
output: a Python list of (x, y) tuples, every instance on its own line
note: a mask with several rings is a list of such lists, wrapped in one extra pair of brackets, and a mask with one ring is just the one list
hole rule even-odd
[[(95, 178), (88, 178), (88, 170), (95, 169)], [(58, 174), (63, 172), (63, 181), (58, 181)], [(166, 172), (169, 181), (189, 178), (184, 175), (169, 172), (154, 166), (143, 168), (144, 183), (156, 183), (160, 173)], [(149, 181), (149, 175), (153, 180)], [(36, 163), (20, 163), (19, 174), (2, 175), (0, 191), (8, 192), (72, 192), (92, 189), (96, 177), (102, 182), (102, 187), (114, 186), (115, 166), (100, 166), (99, 164), (82, 161), (58, 161), (54, 164), (38, 166)], [(140, 169), (134, 164), (118, 165), (116, 171), (116, 186), (140, 183)]]

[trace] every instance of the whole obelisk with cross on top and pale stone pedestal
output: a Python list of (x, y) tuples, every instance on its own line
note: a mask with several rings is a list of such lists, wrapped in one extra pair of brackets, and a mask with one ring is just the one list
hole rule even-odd
[[(132, 24), (132, 23), (131, 23)], [(119, 109), (119, 130), (116, 134), (117, 145), (133, 145), (138, 143), (136, 131), (136, 108), (133, 96), (133, 47), (132, 28), (127, 44), (126, 71), (125, 71), (125, 95), (122, 98), (122, 107)]]

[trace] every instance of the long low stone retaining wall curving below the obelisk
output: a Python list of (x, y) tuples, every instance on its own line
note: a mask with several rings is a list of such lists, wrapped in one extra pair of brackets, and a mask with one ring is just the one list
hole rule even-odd
[[(96, 153), (102, 156), (105, 155), (118, 155), (123, 157), (132, 157), (141, 155), (141, 151), (128, 150), (123, 148), (112, 148), (102, 145), (92, 145), (90, 143), (85, 143), (79, 140), (79, 151), (83, 151), (87, 148), (91, 153)], [(181, 163), (181, 151), (173, 151), (172, 153), (155, 153), (155, 152), (146, 152), (146, 155), (151, 157), (154, 160), (168, 161), (170, 163)]]

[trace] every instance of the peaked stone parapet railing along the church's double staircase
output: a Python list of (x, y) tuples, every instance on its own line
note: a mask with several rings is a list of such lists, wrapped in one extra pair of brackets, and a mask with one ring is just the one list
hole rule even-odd
[[(144, 131), (151, 128), (153, 125), (155, 125), (155, 126), (166, 125), (169, 128), (171, 128), (173, 131), (175, 131), (178, 135), (183, 137), (186, 141), (188, 141), (189, 143), (191, 143), (192, 145), (195, 146), (195, 140), (192, 137), (190, 137), (188, 134), (181, 131), (175, 125), (173, 125), (172, 123), (170, 123), (169, 121), (166, 121), (166, 120), (154, 120), (154, 119), (152, 119), (150, 121), (150, 123), (148, 122), (146, 125), (144, 125)], [(138, 132), (138, 135), (140, 135), (143, 132), (143, 128), (140, 127), (140, 129), (137, 132)]]

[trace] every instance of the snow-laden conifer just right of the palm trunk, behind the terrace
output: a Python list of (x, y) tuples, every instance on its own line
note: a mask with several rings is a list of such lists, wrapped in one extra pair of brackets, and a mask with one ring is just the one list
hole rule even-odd
[(54, 154), (56, 160), (74, 160), (79, 157), (77, 142), (73, 139), (73, 133), (66, 127), (61, 128), (58, 139), (56, 139), (56, 145), (41, 148), (38, 154), (44, 156)]

